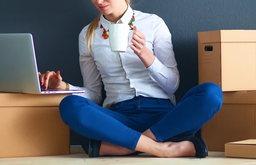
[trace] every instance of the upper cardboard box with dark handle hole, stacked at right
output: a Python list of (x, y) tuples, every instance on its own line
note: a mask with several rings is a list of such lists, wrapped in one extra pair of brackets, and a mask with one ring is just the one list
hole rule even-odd
[(256, 30), (198, 32), (199, 84), (223, 91), (256, 90)]

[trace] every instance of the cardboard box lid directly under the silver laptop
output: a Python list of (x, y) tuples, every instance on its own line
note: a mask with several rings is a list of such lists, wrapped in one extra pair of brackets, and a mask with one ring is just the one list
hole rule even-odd
[(0, 107), (59, 106), (61, 100), (71, 94), (22, 94), (1, 93)]

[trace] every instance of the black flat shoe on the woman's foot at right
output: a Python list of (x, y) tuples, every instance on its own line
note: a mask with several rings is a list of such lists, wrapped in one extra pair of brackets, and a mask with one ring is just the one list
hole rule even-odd
[(199, 138), (192, 138), (188, 141), (190, 141), (194, 144), (195, 157), (198, 157), (198, 158), (208, 157), (208, 148), (207, 148), (206, 143), (204, 142), (204, 139), (199, 137)]

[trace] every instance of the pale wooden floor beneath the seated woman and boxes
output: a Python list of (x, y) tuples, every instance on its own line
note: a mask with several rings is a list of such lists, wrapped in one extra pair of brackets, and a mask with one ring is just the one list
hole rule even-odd
[(149, 154), (132, 157), (89, 158), (80, 146), (72, 146), (66, 156), (2, 158), (0, 165), (256, 165), (256, 159), (226, 158), (223, 152), (209, 152), (209, 157), (157, 158)]

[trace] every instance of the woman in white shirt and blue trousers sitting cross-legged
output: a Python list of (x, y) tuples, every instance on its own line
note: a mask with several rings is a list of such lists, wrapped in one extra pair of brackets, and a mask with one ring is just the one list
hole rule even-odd
[[(84, 87), (62, 81), (60, 72), (39, 73), (45, 88), (85, 89), (59, 106), (64, 123), (90, 138), (90, 157), (149, 153), (157, 157), (207, 157), (204, 140), (191, 137), (222, 105), (218, 85), (190, 89), (176, 105), (179, 72), (171, 34), (164, 21), (135, 11), (130, 0), (91, 0), (99, 16), (79, 35)], [(108, 26), (124, 23), (134, 30), (125, 53), (111, 52)], [(103, 107), (102, 81), (107, 97)]]

